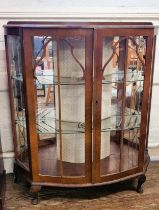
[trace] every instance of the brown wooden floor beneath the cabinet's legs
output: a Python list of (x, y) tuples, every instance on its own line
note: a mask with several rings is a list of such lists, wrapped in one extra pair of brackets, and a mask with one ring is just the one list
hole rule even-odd
[(29, 188), (13, 183), (7, 175), (7, 210), (159, 210), (159, 162), (147, 171), (144, 193), (138, 194), (129, 182), (87, 189), (43, 188), (40, 203), (31, 204)]

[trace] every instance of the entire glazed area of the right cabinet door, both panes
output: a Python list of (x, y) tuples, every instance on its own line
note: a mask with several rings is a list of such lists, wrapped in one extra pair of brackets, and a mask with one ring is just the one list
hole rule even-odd
[(103, 39), (101, 175), (138, 164), (145, 52), (142, 36)]

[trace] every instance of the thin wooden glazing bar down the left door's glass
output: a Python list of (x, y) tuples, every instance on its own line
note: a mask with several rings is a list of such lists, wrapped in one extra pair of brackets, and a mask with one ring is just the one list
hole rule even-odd
[(63, 176), (63, 164), (62, 164), (62, 133), (61, 133), (61, 93), (60, 93), (60, 40), (57, 38), (57, 72), (58, 72), (58, 109), (59, 109), (59, 137), (60, 137), (60, 172)]

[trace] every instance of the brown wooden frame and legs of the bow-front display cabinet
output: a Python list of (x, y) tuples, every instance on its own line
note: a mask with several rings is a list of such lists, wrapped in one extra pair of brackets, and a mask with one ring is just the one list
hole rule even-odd
[[(31, 184), (31, 190), (35, 197), (33, 202), (37, 202), (37, 192), (41, 186), (70, 186), (84, 187), (96, 186), (118, 182), (134, 177), (139, 177), (137, 191), (141, 191), (141, 185), (145, 181), (145, 172), (149, 163), (147, 152), (149, 113), (152, 92), (153, 61), (155, 50), (156, 32), (151, 23), (65, 23), (65, 22), (9, 22), (5, 27), (6, 57), (8, 68), (8, 81), (10, 89), (11, 116), (13, 125), (13, 138), (15, 146), (15, 175), (21, 173)], [(14, 95), (11, 81), (10, 65), (10, 41), (8, 37), (18, 36), (21, 43), (23, 94), (26, 113), (26, 130), (29, 155), (29, 168), (25, 167), (18, 159), (17, 136), (15, 126)], [(36, 127), (36, 104), (35, 81), (33, 74), (33, 45), (34, 36), (61, 37), (82, 36), (85, 38), (85, 163), (84, 176), (63, 176), (61, 161), (61, 176), (40, 175), (38, 158), (38, 134)], [(120, 161), (119, 171), (115, 173), (100, 174), (100, 147), (101, 147), (101, 106), (102, 106), (102, 77), (103, 77), (103, 38), (104, 37), (125, 37), (120, 48), (124, 49), (124, 54), (120, 54), (119, 66), (123, 68), (123, 96), (122, 96), (122, 127), (119, 142)], [(144, 63), (144, 86), (141, 110), (140, 141), (138, 148), (138, 164), (136, 167), (121, 170), (123, 162), (123, 138), (124, 138), (124, 110), (126, 97), (126, 76), (128, 69), (128, 40), (129, 37), (143, 37), (146, 40), (146, 53)], [(122, 38), (121, 38), (122, 39)], [(137, 47), (136, 47), (137, 48)], [(57, 45), (57, 54), (59, 49)], [(75, 58), (76, 59), (76, 58)], [(57, 63), (58, 63), (57, 59)], [(59, 64), (57, 64), (60, 72)], [(58, 92), (60, 98), (60, 78), (58, 79)], [(61, 112), (59, 99), (59, 113)], [(59, 114), (60, 116), (60, 114)], [(60, 119), (60, 118), (59, 118)], [(59, 127), (61, 134), (61, 128)]]

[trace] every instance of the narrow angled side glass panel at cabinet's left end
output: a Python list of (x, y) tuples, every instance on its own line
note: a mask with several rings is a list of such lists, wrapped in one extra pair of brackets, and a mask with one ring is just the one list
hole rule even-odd
[(14, 97), (15, 124), (16, 124), (16, 150), (19, 161), (29, 170), (28, 144), (26, 132), (25, 97), (21, 63), (20, 37), (8, 36), (8, 56), (12, 90)]

